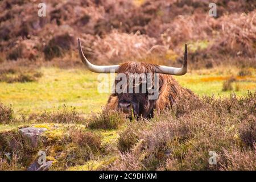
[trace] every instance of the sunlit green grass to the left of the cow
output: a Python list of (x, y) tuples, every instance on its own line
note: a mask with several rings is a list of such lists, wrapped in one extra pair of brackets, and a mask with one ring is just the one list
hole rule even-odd
[(42, 68), (38, 82), (0, 82), (0, 101), (15, 113), (31, 113), (73, 106), (84, 113), (99, 111), (108, 94), (97, 92), (97, 74), (84, 69)]

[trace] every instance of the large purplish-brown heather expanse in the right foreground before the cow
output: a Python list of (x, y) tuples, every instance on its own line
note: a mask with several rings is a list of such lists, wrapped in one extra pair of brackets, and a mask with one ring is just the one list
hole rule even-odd
[[(167, 110), (143, 127), (131, 123), (137, 142), (109, 169), (255, 170), (255, 97), (204, 97), (187, 113)], [(208, 163), (209, 151), (217, 153), (216, 165)]]

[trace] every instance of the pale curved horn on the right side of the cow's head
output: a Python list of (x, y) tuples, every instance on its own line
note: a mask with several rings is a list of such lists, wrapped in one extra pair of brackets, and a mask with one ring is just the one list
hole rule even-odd
[(168, 75), (185, 75), (188, 71), (188, 53), (187, 44), (185, 44), (184, 61), (181, 68), (167, 67), (159, 65), (156, 67), (156, 73), (163, 73)]

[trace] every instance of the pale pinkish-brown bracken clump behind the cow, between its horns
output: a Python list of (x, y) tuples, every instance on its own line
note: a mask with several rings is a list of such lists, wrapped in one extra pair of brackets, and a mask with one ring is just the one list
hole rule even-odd
[(98, 64), (121, 63), (142, 59), (147, 55), (148, 50), (154, 46), (154, 38), (147, 35), (126, 34), (112, 31), (104, 38), (98, 38), (92, 45), (93, 59)]

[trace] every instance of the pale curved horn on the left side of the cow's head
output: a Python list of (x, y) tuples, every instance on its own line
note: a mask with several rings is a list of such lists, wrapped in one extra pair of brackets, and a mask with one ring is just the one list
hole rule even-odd
[(82, 52), (80, 39), (78, 39), (78, 45), (79, 45), (79, 54), (80, 54), (82, 63), (85, 64), (86, 68), (88, 68), (89, 71), (96, 72), (96, 73), (116, 73), (117, 72), (119, 65), (98, 66), (90, 63), (84, 56), (84, 52)]

